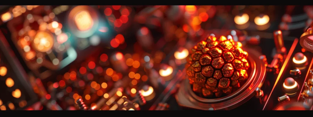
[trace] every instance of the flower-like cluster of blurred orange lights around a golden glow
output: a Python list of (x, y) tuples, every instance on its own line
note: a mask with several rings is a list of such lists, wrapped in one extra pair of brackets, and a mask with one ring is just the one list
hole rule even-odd
[[(62, 33), (61, 23), (56, 21), (51, 22), (54, 17), (54, 13), (50, 13), (43, 18), (34, 17), (32, 14), (27, 15), (29, 22), (37, 21), (39, 24), (39, 31), (32, 30), (30, 26), (24, 27), (19, 31), (19, 36), (21, 37), (18, 40), (18, 45), (24, 50), (25, 59), (27, 61), (33, 60), (37, 56), (37, 63), (41, 64), (43, 62), (43, 55), (36, 53), (35, 50), (52, 53), (49, 51), (54, 46), (58, 48), (56, 51), (64, 51), (65, 46), (62, 44), (68, 40), (68, 34)], [(52, 33), (57, 36), (56, 39), (58, 43), (54, 43), (54, 35), (52, 35)], [(51, 58), (51, 61), (54, 65), (59, 64), (59, 59), (56, 57)]]

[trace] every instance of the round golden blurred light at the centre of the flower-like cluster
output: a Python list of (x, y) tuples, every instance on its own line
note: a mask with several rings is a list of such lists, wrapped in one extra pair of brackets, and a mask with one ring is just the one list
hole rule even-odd
[(54, 44), (54, 37), (48, 32), (38, 32), (33, 41), (33, 47), (40, 52), (49, 51)]

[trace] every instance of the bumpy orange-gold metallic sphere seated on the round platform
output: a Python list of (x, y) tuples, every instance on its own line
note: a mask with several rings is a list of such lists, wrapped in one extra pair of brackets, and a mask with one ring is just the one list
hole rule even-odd
[(218, 98), (230, 95), (244, 84), (249, 62), (248, 52), (241, 47), (240, 42), (224, 36), (199, 41), (191, 49), (185, 65), (192, 90), (202, 97)]

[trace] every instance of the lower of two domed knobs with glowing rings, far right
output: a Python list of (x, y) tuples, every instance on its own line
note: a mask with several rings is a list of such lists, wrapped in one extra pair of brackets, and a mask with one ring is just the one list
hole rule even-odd
[(299, 84), (293, 78), (286, 78), (283, 84), (284, 92), (289, 96), (294, 96), (299, 89)]

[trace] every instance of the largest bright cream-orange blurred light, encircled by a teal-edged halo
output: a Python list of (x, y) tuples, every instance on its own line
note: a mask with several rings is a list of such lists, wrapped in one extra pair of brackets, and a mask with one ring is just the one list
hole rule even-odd
[(87, 31), (94, 25), (93, 19), (87, 10), (77, 12), (74, 16), (74, 22), (80, 31)]

